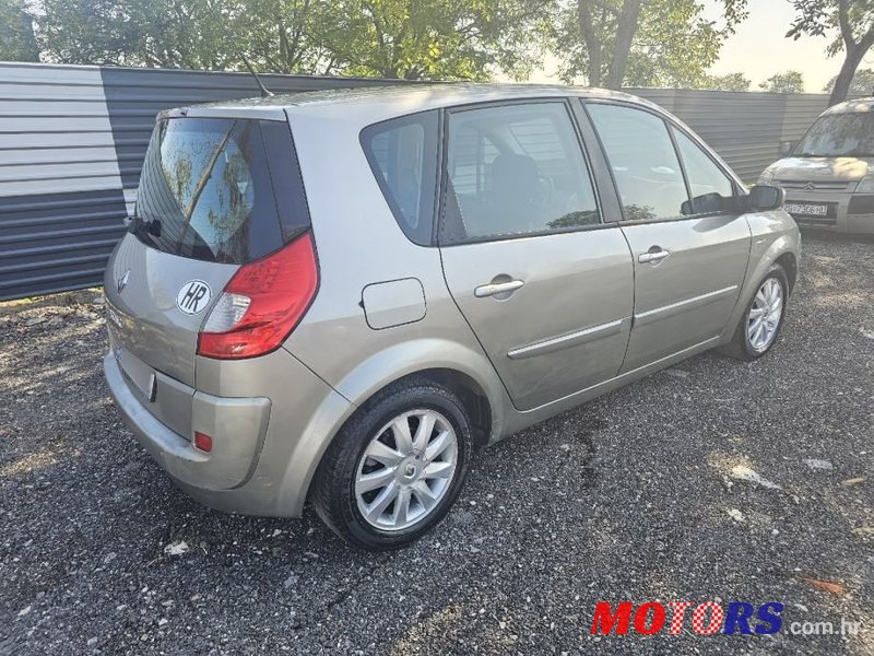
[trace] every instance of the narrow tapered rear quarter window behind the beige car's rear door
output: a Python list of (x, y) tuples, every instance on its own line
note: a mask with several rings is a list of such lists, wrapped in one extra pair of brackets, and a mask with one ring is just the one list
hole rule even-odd
[(362, 147), (394, 219), (416, 244), (432, 243), (437, 187), (437, 113), (369, 126)]

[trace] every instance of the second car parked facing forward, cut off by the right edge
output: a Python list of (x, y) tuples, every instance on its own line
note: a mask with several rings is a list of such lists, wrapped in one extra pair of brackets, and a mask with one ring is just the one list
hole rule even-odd
[(801, 225), (874, 234), (874, 98), (824, 112), (804, 138), (783, 147), (759, 184), (786, 189), (786, 210)]

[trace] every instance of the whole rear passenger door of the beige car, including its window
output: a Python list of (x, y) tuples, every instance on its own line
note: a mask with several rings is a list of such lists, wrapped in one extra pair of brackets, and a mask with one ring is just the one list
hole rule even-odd
[(615, 376), (631, 257), (603, 221), (568, 103), (448, 110), (445, 139), (444, 274), (515, 406)]

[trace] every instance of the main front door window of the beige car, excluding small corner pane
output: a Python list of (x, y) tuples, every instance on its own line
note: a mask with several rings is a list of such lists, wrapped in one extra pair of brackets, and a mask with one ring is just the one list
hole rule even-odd
[(658, 116), (619, 105), (587, 105), (604, 145), (625, 219), (674, 219), (688, 209), (683, 171)]

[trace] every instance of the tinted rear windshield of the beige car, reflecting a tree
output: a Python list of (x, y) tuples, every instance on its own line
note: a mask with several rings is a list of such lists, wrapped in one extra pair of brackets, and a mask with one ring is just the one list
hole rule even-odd
[(169, 118), (152, 134), (131, 231), (193, 259), (246, 263), (309, 226), (288, 125)]

